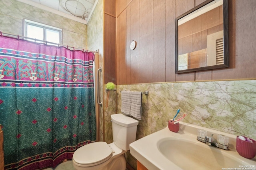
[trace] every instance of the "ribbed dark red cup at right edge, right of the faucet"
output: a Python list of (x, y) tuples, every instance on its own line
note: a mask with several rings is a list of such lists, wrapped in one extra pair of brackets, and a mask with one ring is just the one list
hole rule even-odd
[(248, 159), (252, 159), (256, 155), (256, 141), (253, 139), (250, 140), (252, 140), (252, 143), (239, 139), (238, 136), (236, 137), (236, 151)]

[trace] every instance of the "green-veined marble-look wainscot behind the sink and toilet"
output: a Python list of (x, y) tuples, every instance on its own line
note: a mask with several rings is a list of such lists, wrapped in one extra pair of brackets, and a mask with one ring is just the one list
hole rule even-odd
[[(117, 113), (120, 113), (120, 91), (149, 91), (148, 95), (142, 95), (142, 120), (136, 139), (166, 127), (177, 109), (180, 109), (178, 118), (183, 113), (188, 114), (184, 122), (256, 139), (255, 84), (256, 80), (232, 80), (118, 85), (112, 100), (116, 93)], [(111, 124), (106, 128), (112, 131)], [(126, 158), (135, 168), (136, 160), (129, 152)]]

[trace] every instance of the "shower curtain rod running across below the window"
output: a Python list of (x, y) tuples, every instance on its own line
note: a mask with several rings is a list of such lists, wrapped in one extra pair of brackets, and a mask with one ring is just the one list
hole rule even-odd
[[(4, 34), (4, 35), (3, 35)], [(58, 45), (58, 47), (62, 46), (62, 47), (67, 47), (68, 48), (68, 45), (63, 45), (63, 44), (58, 44), (58, 43), (52, 43), (50, 41), (44, 41), (44, 40), (40, 40), (40, 39), (35, 39), (35, 38), (30, 38), (30, 37), (24, 37), (24, 36), (20, 36), (20, 35), (14, 35), (14, 34), (10, 34), (10, 33), (3, 33), (2, 31), (0, 31), (0, 35), (3, 37), (3, 36), (6, 36), (6, 37), (13, 37), (13, 38), (24, 38), (24, 40), (26, 39), (31, 39), (31, 40), (34, 40), (35, 43), (38, 43), (36, 41), (41, 41), (42, 43), (46, 44), (47, 43), (50, 43), (50, 44), (54, 44), (54, 45)], [(80, 48), (76, 48), (76, 47), (73, 47), (73, 49), (78, 49), (78, 50), (81, 50), (81, 51), (84, 51), (84, 49), (80, 49)], [(86, 51), (89, 51), (89, 50), (86, 50)], [(98, 53), (98, 50), (96, 51), (89, 51), (89, 52), (93, 52), (93, 53)]]

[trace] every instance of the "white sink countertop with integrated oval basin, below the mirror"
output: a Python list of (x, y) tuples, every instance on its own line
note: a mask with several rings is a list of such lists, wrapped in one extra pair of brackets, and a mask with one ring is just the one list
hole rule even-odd
[[(229, 150), (198, 141), (198, 129), (205, 129), (215, 138), (217, 134), (228, 136)], [(183, 122), (180, 122), (178, 133), (166, 127), (131, 143), (130, 153), (149, 170), (221, 170), (256, 165), (256, 158), (247, 159), (236, 152), (235, 135)]]

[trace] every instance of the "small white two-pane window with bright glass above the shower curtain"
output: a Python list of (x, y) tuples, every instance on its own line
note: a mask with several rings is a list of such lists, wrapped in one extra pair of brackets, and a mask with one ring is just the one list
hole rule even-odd
[[(25, 37), (47, 41), (47, 44), (61, 44), (62, 29), (45, 25), (42, 23), (24, 20), (24, 35)], [(34, 41), (28, 39), (29, 41)], [(42, 42), (36, 41), (36, 42)], [(48, 43), (51, 42), (51, 43)], [(55, 45), (55, 44), (52, 44)]]

